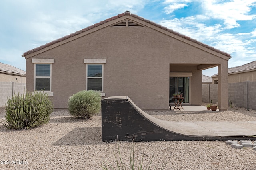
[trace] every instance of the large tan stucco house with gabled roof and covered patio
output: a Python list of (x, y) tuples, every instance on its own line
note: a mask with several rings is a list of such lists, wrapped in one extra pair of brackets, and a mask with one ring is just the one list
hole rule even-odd
[(218, 106), (228, 108), (230, 54), (126, 11), (24, 52), (26, 89), (55, 108), (80, 90), (129, 96), (141, 109), (169, 109), (172, 94), (202, 104), (202, 70), (218, 66)]

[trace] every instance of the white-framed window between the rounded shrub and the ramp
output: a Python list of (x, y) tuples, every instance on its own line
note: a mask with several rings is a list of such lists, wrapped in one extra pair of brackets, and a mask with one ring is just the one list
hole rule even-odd
[(86, 64), (86, 90), (103, 91), (103, 64)]

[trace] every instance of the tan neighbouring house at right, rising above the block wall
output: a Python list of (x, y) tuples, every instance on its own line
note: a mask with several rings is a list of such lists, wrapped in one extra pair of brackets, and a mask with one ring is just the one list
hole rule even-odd
[[(228, 68), (228, 83), (256, 81), (256, 61)], [(218, 84), (218, 74), (212, 76), (212, 83)]]

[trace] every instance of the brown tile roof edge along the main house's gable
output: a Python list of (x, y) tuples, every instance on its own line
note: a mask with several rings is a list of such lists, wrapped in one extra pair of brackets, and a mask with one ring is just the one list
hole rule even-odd
[(108, 19), (106, 19), (106, 20), (104, 20), (104, 21), (100, 21), (99, 23), (95, 23), (94, 25), (91, 25), (91, 26), (89, 26), (89, 27), (86, 27), (86, 28), (84, 28), (84, 29), (81, 29), (81, 30), (79, 30), (79, 31), (76, 31), (75, 33), (71, 33), (70, 35), (66, 35), (66, 36), (61, 37), (61, 38), (59, 38), (59, 39), (53, 40), (52, 42), (46, 43), (46, 44), (44, 44), (44, 45), (41, 45), (40, 47), (36, 47), (36, 48), (34, 48), (34, 49), (32, 49), (32, 50), (28, 50), (28, 51), (24, 52), (22, 56), (25, 57), (25, 56), (28, 55), (28, 54), (31, 54), (31, 53), (34, 53), (34, 52), (39, 51), (39, 50), (41, 50), (41, 49), (44, 49), (44, 48), (46, 48), (46, 47), (49, 47), (50, 45), (53, 45), (53, 44), (58, 43), (58, 42), (60, 42), (60, 41), (63, 41), (64, 39), (68, 39), (68, 38), (70, 38), (70, 37), (73, 37), (73, 36), (75, 36), (75, 35), (78, 35), (78, 34), (80, 34), (80, 33), (83, 33), (84, 31), (88, 31), (89, 29), (93, 29), (94, 27), (97, 27), (97, 26), (99, 26), (99, 25), (102, 25), (102, 24), (104, 24), (104, 23), (106, 23), (106, 22), (115, 20), (115, 19), (120, 18), (120, 17), (125, 16), (125, 15), (130, 15), (130, 16), (133, 16), (133, 17), (135, 17), (135, 18), (138, 18), (139, 20), (142, 20), (142, 21), (145, 21), (145, 22), (150, 23), (150, 24), (152, 24), (152, 25), (155, 25), (156, 27), (159, 27), (159, 28), (161, 28), (161, 29), (164, 29), (164, 30), (166, 30), (166, 31), (168, 31), (168, 32), (170, 32), (170, 33), (173, 33), (173, 34), (175, 34), (175, 35), (178, 35), (178, 36), (180, 36), (180, 37), (182, 37), (182, 38), (184, 38), (184, 39), (188, 39), (188, 40), (190, 40), (190, 41), (192, 41), (192, 42), (194, 42), (194, 43), (197, 43), (197, 44), (199, 44), (199, 45), (202, 45), (203, 47), (206, 47), (206, 48), (208, 48), (208, 49), (211, 49), (211, 50), (213, 50), (213, 51), (216, 51), (217, 53), (221, 53), (222, 55), (226, 55), (226, 56), (228, 56), (229, 58), (231, 58), (230, 54), (228, 54), (228, 53), (226, 53), (226, 52), (224, 52), (224, 51), (221, 51), (221, 50), (216, 49), (216, 48), (214, 48), (214, 47), (212, 47), (212, 46), (209, 46), (209, 45), (207, 45), (207, 44), (204, 44), (204, 43), (202, 43), (202, 42), (200, 42), (200, 41), (197, 41), (196, 39), (193, 39), (193, 38), (191, 38), (191, 37), (188, 37), (188, 36), (186, 36), (186, 35), (183, 35), (183, 34), (181, 34), (181, 33), (178, 33), (177, 31), (174, 31), (174, 30), (172, 30), (172, 29), (169, 29), (169, 28), (167, 28), (167, 27), (164, 27), (164, 26), (162, 26), (162, 25), (160, 25), (160, 24), (158, 24), (158, 23), (155, 23), (155, 22), (153, 22), (153, 21), (147, 20), (147, 19), (145, 19), (145, 18), (143, 18), (143, 17), (140, 17), (140, 16), (138, 16), (138, 15), (136, 15), (136, 14), (132, 14), (130, 11), (125, 11), (124, 13), (118, 14), (117, 16), (113, 16), (113, 17), (108, 18)]

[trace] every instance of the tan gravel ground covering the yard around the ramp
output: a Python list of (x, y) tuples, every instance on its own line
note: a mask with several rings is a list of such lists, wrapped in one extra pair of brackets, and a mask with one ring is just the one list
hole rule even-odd
[[(229, 108), (224, 112), (177, 113), (147, 111), (168, 121), (256, 121), (256, 111)], [(125, 168), (130, 165), (132, 143), (101, 141), (101, 115), (77, 119), (68, 111), (54, 111), (50, 122), (31, 130), (4, 127), (4, 107), (0, 107), (0, 169), (102, 169), (102, 162), (114, 165), (118, 146)], [(225, 141), (158, 141), (134, 143), (134, 158), (143, 165), (166, 170), (256, 169), (256, 151), (234, 149)], [(153, 156), (153, 158), (152, 158)], [(108, 163), (107, 163), (108, 162)], [(119, 161), (120, 163), (120, 161)], [(137, 163), (136, 163), (137, 165)], [(135, 168), (137, 169), (137, 168)]]

